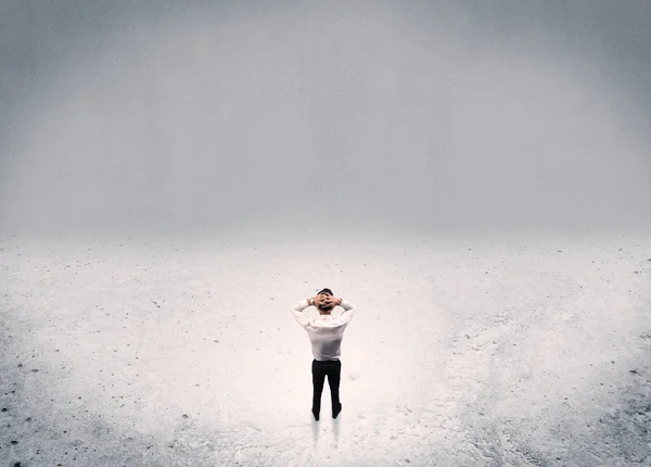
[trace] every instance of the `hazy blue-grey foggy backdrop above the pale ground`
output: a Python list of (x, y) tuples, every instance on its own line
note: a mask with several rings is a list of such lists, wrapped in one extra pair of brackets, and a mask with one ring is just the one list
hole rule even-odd
[(0, 5), (5, 234), (651, 223), (647, 1)]

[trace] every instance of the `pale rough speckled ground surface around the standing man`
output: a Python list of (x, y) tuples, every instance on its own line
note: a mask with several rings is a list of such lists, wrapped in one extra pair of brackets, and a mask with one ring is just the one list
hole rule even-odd
[(649, 238), (4, 237), (0, 466), (651, 465)]

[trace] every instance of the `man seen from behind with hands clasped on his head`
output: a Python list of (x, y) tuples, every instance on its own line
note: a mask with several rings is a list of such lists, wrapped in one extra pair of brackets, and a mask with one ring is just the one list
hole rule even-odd
[[(319, 316), (310, 319), (303, 311), (312, 305), (319, 311)], [(344, 308), (344, 312), (337, 317), (331, 315), (335, 306)], [(315, 359), (311, 368), (314, 386), (311, 412), (315, 420), (319, 420), (321, 412), (321, 393), (326, 376), (328, 376), (328, 386), (330, 386), (332, 418), (336, 418), (342, 412), (342, 403), (339, 399), (342, 374), (341, 345), (344, 330), (355, 314), (355, 306), (346, 300), (335, 298), (332, 290), (323, 289), (311, 299), (296, 303), (292, 307), (292, 314), (307, 331), (312, 345)]]

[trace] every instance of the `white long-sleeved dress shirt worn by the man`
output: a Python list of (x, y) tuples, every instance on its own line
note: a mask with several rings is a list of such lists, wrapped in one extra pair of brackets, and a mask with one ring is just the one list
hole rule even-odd
[(307, 336), (309, 336), (309, 340), (312, 344), (315, 359), (340, 359), (344, 330), (346, 329), (346, 326), (348, 326), (348, 323), (350, 323), (350, 319), (353, 319), (355, 305), (346, 300), (342, 300), (340, 305), (344, 308), (342, 314), (336, 317), (331, 315), (319, 315), (315, 318), (310, 318), (303, 313), (308, 306), (307, 299), (302, 300), (292, 306), (292, 315), (307, 331)]

